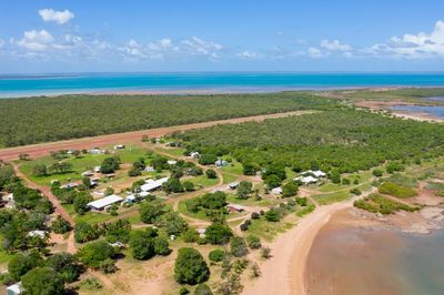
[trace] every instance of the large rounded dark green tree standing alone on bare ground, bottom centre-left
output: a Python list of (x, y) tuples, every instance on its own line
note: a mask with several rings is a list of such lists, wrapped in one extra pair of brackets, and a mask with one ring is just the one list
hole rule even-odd
[(184, 247), (178, 251), (174, 278), (179, 284), (200, 284), (205, 282), (209, 276), (210, 269), (196, 250)]

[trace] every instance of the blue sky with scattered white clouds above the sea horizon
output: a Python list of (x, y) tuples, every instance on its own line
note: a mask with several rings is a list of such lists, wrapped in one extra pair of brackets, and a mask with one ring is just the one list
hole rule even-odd
[(442, 71), (444, 1), (0, 1), (0, 72)]

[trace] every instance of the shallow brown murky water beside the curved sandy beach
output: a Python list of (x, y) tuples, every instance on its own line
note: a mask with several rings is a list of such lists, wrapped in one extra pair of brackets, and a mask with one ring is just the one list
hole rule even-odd
[(311, 250), (310, 294), (444, 294), (444, 232), (327, 225)]

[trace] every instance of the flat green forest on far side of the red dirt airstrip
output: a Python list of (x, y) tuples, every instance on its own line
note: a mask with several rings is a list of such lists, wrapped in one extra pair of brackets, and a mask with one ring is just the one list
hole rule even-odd
[(310, 93), (63, 95), (0, 100), (0, 146), (111, 134), (335, 104)]

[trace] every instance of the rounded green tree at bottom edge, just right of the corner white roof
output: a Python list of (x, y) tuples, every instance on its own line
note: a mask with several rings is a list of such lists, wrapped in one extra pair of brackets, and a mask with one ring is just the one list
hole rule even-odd
[(24, 294), (29, 295), (62, 295), (64, 283), (58, 272), (50, 267), (37, 267), (27, 273), (22, 279)]

